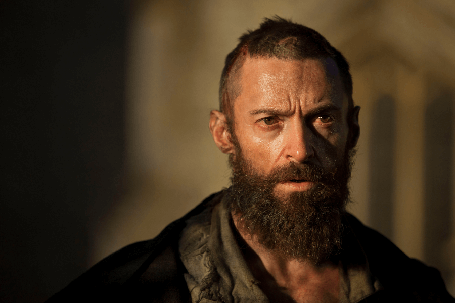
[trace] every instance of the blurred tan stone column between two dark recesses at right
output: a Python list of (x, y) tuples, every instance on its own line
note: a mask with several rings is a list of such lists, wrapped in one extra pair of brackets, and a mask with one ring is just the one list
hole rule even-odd
[(423, 259), (426, 83), (423, 71), (404, 65), (397, 66), (396, 82), (394, 240), (408, 256)]

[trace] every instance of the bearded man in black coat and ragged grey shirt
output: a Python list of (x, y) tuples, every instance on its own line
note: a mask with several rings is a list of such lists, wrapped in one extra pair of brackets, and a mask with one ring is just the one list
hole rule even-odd
[(49, 301), (453, 301), (437, 270), (345, 211), (359, 110), (339, 51), (266, 19), (226, 58), (210, 113), (231, 187)]

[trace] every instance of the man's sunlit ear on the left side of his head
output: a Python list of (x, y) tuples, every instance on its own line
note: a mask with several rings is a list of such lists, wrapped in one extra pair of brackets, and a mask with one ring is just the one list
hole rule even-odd
[(218, 149), (224, 154), (234, 153), (234, 145), (231, 142), (226, 116), (223, 113), (217, 110), (210, 112), (209, 128)]

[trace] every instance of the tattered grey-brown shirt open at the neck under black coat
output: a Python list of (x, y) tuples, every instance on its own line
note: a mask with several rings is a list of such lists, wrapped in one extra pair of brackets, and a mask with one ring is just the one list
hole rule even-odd
[[(188, 219), (180, 234), (179, 253), (192, 301), (268, 302), (237, 245), (225, 204), (213, 203)], [(352, 232), (344, 235), (342, 250), (340, 302), (358, 302), (382, 289)]]

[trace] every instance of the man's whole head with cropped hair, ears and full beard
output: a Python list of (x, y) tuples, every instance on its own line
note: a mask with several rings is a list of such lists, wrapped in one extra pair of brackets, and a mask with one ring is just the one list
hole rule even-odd
[(280, 18), (240, 40), (210, 115), (230, 155), (233, 213), (267, 248), (320, 262), (339, 242), (359, 135), (349, 66), (319, 33)]

